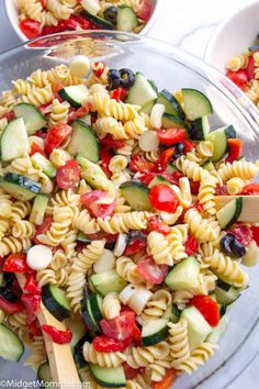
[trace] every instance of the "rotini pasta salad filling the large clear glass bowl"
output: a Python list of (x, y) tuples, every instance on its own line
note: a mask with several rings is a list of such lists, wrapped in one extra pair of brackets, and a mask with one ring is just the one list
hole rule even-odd
[[(258, 164), (199, 90), (74, 57), (0, 100), (0, 356), (52, 381), (44, 338), (93, 388), (169, 388), (218, 348), (259, 260)], [(218, 207), (218, 196), (230, 196)], [(26, 282), (21, 289), (16, 275)], [(66, 331), (41, 326), (41, 301)], [(8, 345), (8, 347), (5, 346)]]

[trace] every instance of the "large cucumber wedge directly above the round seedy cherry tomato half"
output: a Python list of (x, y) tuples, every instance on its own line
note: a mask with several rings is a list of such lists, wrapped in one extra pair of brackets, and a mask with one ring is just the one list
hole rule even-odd
[(72, 122), (72, 136), (68, 153), (80, 154), (82, 157), (97, 163), (99, 160), (99, 141), (94, 131), (85, 121), (77, 119)]

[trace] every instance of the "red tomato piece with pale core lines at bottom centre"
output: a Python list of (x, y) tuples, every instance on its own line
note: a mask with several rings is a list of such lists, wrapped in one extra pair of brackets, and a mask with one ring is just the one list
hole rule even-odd
[(111, 320), (102, 319), (100, 321), (101, 329), (108, 337), (116, 341), (124, 341), (133, 333), (133, 325), (135, 324), (134, 312), (122, 312), (120, 316)]

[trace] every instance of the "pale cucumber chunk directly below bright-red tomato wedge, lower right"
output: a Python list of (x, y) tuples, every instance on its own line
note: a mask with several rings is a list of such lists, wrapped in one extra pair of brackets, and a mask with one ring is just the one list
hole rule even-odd
[(212, 327), (195, 307), (185, 308), (181, 313), (181, 318), (188, 322), (189, 345), (192, 351), (205, 341), (212, 332)]

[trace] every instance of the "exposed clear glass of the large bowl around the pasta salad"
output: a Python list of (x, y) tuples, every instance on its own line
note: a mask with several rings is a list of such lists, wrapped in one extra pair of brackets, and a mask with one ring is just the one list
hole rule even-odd
[[(252, 103), (222, 74), (195, 57), (160, 41), (119, 32), (63, 33), (19, 45), (0, 55), (0, 90), (11, 81), (26, 78), (37, 68), (47, 69), (68, 63), (76, 54), (92, 62), (104, 60), (110, 67), (128, 67), (154, 79), (159, 89), (176, 91), (196, 88), (212, 101), (212, 126), (234, 124), (244, 141), (247, 159), (259, 158), (259, 113)], [(192, 376), (182, 376), (173, 389), (223, 389), (256, 357), (259, 349), (259, 267), (247, 269), (250, 287), (229, 310), (229, 326), (219, 343), (219, 351)], [(35, 379), (23, 360), (12, 364), (0, 360), (1, 379)]]

